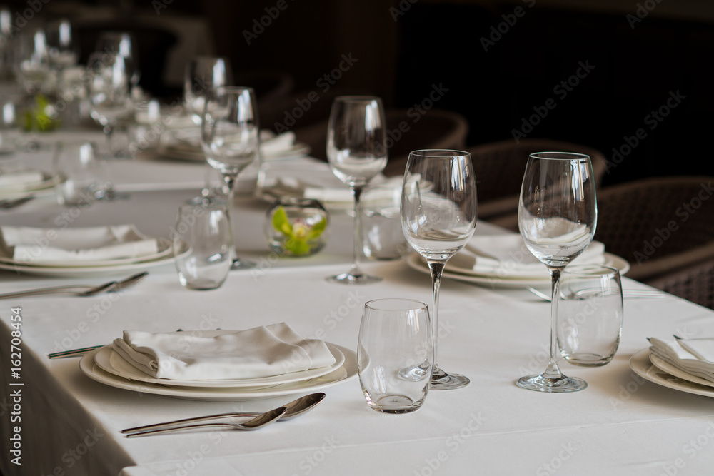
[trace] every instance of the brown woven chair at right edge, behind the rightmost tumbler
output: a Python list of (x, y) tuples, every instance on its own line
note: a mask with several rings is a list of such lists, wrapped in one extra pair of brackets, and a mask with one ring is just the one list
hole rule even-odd
[(643, 283), (714, 259), (714, 178), (645, 178), (598, 193), (595, 240)]

